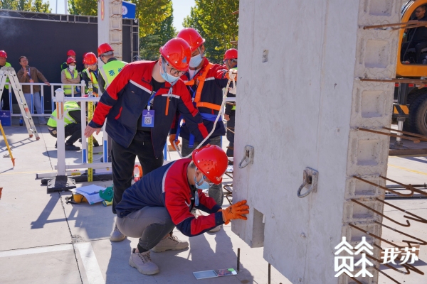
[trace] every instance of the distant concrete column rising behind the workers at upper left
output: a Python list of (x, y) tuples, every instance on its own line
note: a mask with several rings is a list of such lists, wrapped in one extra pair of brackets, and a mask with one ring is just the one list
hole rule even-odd
[(98, 45), (110, 43), (115, 57), (122, 60), (122, 1), (98, 1)]

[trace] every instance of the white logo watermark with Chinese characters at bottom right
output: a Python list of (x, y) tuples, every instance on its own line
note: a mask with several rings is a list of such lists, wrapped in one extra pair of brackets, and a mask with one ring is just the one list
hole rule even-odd
[[(367, 266), (374, 266), (374, 263), (371, 263), (371, 261), (368, 260), (367, 254), (370, 256), (374, 255), (374, 253), (371, 251), (374, 248), (367, 242), (366, 237), (362, 236), (362, 241), (357, 244), (357, 246), (352, 246), (346, 241), (346, 237), (342, 237), (341, 243), (339, 243), (334, 248), (336, 250), (335, 252), (335, 258), (334, 258), (334, 270), (337, 272), (335, 274), (335, 277), (338, 277), (342, 273), (345, 273), (349, 275), (350, 277), (358, 277), (362, 275), (362, 277), (366, 277), (367, 275), (369, 277), (374, 277), (368, 270)], [(354, 250), (356, 252), (354, 252)], [(382, 264), (386, 263), (393, 263), (393, 264), (405, 264), (409, 263), (412, 264), (415, 261), (418, 261), (418, 257), (416, 256), (416, 251), (419, 250), (418, 248), (412, 247), (408, 248), (405, 247), (403, 249), (399, 248), (388, 248), (384, 249), (384, 256), (381, 256), (381, 259), (383, 259)], [(340, 253), (346, 252), (348, 256), (339, 256)], [(362, 257), (357, 261), (357, 263), (354, 263), (354, 256), (361, 255)], [(395, 260), (401, 256), (400, 263), (396, 263)], [(354, 266), (360, 266), (362, 269), (353, 275), (352, 272), (354, 272)]]

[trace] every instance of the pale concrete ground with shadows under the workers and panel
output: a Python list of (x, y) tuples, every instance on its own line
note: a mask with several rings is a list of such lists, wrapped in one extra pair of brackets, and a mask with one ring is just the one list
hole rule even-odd
[[(36, 173), (54, 172), (56, 138), (48, 133), (46, 126), (37, 126), (39, 141), (28, 138), (26, 128), (18, 126), (17, 122), (14, 119), (14, 126), (4, 127), (9, 144), (13, 146), (15, 168), (11, 167), (10, 158), (1, 158), (7, 150), (0, 138), (0, 187), (4, 187), (0, 200), (0, 283), (268, 283), (268, 263), (263, 259), (263, 249), (249, 248), (231, 232), (231, 225), (224, 226), (218, 233), (191, 239), (175, 230), (179, 239), (189, 241), (189, 249), (152, 253), (160, 273), (154, 276), (138, 273), (127, 263), (137, 239), (115, 243), (108, 239), (115, 219), (111, 207), (102, 204), (72, 206), (64, 200), (70, 192), (46, 194), (46, 186), (35, 177)], [(98, 149), (102, 151), (97, 148), (95, 152)], [(67, 152), (66, 157), (67, 163), (80, 163), (81, 160), (80, 152)], [(172, 152), (171, 158), (178, 157)], [(412, 184), (427, 182), (426, 163), (427, 158), (423, 157), (390, 157), (388, 177)], [(112, 181), (93, 183), (107, 187)], [(78, 183), (78, 187), (87, 184)], [(427, 200), (387, 201), (427, 219)], [(224, 200), (223, 207), (227, 205)], [(385, 207), (384, 214), (404, 220), (403, 213), (391, 207)], [(384, 224), (393, 226), (389, 221)], [(413, 221), (411, 224), (408, 228), (399, 226), (396, 229), (427, 240), (427, 224)], [(383, 230), (383, 238), (403, 239), (389, 229)], [(238, 248), (241, 249), (238, 275), (205, 280), (194, 278), (194, 271), (236, 269)], [(426, 260), (426, 247), (421, 246), (420, 261), (415, 266), (424, 273), (427, 273)], [(381, 269), (399, 283), (427, 283), (427, 276), (413, 272), (403, 275), (382, 266)], [(271, 283), (288, 284), (290, 281), (272, 267)], [(395, 282), (380, 275), (379, 283)]]

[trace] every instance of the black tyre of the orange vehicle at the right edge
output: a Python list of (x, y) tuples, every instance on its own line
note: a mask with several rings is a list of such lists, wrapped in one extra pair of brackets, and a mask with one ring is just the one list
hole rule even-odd
[(412, 132), (427, 136), (427, 94), (413, 100), (406, 120)]

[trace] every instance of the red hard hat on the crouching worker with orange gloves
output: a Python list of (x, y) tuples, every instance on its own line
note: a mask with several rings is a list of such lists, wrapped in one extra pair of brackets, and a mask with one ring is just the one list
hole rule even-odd
[(228, 158), (226, 153), (216, 145), (206, 145), (193, 151), (193, 163), (211, 182), (219, 185), (226, 173)]

